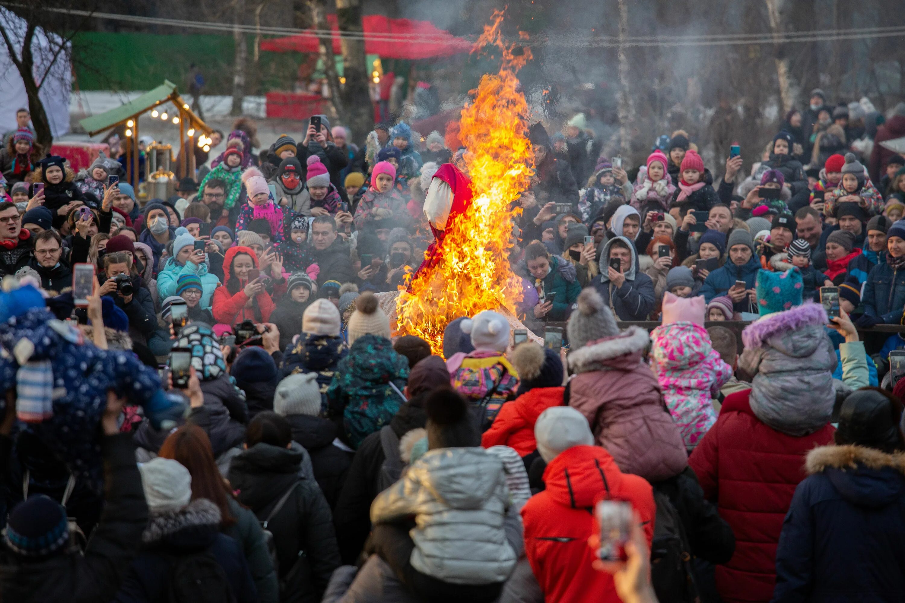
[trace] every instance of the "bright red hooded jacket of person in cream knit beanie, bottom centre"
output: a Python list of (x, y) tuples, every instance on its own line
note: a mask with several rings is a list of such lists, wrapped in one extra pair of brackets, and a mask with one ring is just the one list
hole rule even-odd
[[(505, 405), (504, 405), (505, 408)], [(576, 446), (550, 461), (547, 489), (522, 507), (525, 553), (546, 603), (620, 603), (610, 574), (591, 567), (587, 539), (595, 530), (597, 500), (633, 504), (644, 535), (653, 539), (653, 490), (643, 477), (624, 474), (604, 448)]]

